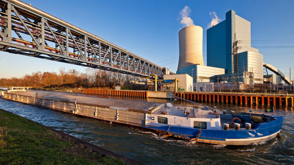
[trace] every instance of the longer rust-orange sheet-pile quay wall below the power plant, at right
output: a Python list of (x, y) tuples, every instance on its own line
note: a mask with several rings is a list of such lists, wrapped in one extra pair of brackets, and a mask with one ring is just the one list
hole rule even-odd
[(249, 105), (281, 105), (294, 106), (294, 97), (290, 96), (259, 96), (259, 95), (239, 95), (218, 92), (175, 92), (176, 97), (186, 100), (200, 102), (223, 102), (230, 104), (249, 104)]

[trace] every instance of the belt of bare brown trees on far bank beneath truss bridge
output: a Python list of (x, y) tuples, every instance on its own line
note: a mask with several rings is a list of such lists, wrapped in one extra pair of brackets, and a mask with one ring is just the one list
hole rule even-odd
[[(114, 86), (129, 86), (131, 89), (139, 89), (144, 87), (143, 79), (133, 75), (125, 75), (106, 70), (87, 68), (85, 73), (80, 73), (75, 69), (65, 70), (59, 68), (59, 73), (37, 71), (26, 74), (21, 78), (1, 78), (2, 86), (33, 86), (46, 87), (66, 86), (66, 87), (103, 87), (114, 88)], [(145, 83), (147, 84), (147, 83)], [(147, 87), (145, 85), (145, 87)]]

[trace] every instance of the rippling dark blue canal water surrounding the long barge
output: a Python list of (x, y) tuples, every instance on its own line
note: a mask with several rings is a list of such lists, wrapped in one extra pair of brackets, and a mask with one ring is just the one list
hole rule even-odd
[[(50, 93), (71, 95), (66, 92)], [(98, 97), (75, 93), (74, 95)], [(152, 98), (105, 98), (168, 102), (165, 99)], [(185, 101), (173, 103), (193, 105)], [(211, 107), (217, 106), (220, 110), (234, 110), (235, 112), (253, 110), (253, 113), (263, 113), (264, 109), (268, 107), (266, 105), (231, 105), (206, 102), (204, 104)], [(0, 108), (146, 164), (294, 164), (293, 107), (275, 107), (275, 115), (284, 117), (280, 139), (242, 147), (167, 139), (139, 129), (108, 124), (95, 119), (78, 117), (5, 99), (0, 99)]]

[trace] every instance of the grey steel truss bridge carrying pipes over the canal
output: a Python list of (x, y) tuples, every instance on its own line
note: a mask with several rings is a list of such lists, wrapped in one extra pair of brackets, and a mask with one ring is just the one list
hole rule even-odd
[(0, 8), (1, 51), (138, 77), (174, 74), (22, 1), (0, 0)]

